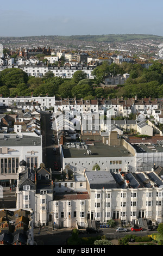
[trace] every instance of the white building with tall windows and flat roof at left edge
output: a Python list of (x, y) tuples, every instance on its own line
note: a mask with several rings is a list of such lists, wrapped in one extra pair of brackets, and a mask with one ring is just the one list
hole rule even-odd
[(29, 133), (0, 135), (0, 185), (5, 187), (17, 180), (18, 163), (24, 159), (31, 169), (42, 162), (41, 136)]

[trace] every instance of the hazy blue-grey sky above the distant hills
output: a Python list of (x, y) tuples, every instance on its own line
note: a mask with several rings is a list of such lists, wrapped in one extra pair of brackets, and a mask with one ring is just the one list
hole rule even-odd
[(162, 10), (162, 0), (0, 0), (0, 36), (163, 36)]

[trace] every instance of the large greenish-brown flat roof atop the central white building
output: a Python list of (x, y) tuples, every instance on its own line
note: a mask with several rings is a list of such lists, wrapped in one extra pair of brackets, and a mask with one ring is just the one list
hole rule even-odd
[(133, 156), (123, 146), (110, 146), (101, 142), (93, 142), (93, 145), (87, 144), (88, 149), (91, 151), (91, 155), (87, 154), (87, 149), (68, 148), (66, 145), (62, 145), (62, 151), (65, 158), (70, 157), (124, 157)]

